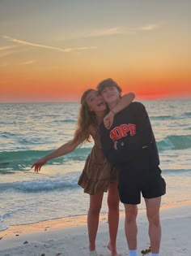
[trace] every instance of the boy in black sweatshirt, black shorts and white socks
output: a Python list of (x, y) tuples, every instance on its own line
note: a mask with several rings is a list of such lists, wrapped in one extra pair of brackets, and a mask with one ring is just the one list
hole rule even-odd
[[(121, 98), (120, 86), (109, 78), (100, 82), (97, 89), (112, 111)], [(111, 128), (106, 129), (101, 124), (100, 136), (105, 156), (119, 171), (118, 189), (125, 206), (125, 235), (129, 256), (137, 256), (136, 218), (141, 193), (146, 202), (151, 256), (159, 256), (159, 207), (161, 196), (166, 193), (166, 184), (159, 169), (159, 154), (145, 106), (140, 102), (132, 102), (115, 115)]]

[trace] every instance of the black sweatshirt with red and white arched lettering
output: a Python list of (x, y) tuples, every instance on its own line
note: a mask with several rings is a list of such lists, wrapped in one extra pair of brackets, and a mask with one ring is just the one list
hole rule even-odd
[[(159, 154), (145, 106), (132, 102), (115, 115), (112, 128), (100, 125), (104, 155), (118, 170), (145, 169), (159, 165)], [(114, 149), (117, 141), (117, 150)]]

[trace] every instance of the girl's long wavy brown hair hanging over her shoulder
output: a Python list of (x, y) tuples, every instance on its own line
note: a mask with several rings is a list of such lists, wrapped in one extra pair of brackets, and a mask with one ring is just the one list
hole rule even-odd
[(73, 141), (79, 141), (84, 138), (83, 142), (90, 142), (91, 141), (91, 134), (89, 131), (90, 126), (97, 129), (97, 121), (96, 121), (96, 114), (93, 111), (89, 110), (87, 105), (87, 94), (91, 91), (96, 91), (95, 89), (87, 89), (81, 98), (81, 106), (79, 109), (79, 118), (77, 122), (77, 128), (74, 132), (74, 139)]

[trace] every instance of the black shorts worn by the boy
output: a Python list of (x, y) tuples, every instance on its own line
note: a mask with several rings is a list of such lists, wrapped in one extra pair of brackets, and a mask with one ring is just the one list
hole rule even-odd
[(121, 202), (137, 205), (144, 198), (160, 197), (166, 193), (166, 183), (159, 167), (119, 171), (119, 195)]

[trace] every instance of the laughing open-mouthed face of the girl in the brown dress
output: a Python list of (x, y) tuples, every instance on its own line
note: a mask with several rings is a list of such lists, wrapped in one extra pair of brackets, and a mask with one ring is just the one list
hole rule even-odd
[(86, 102), (90, 111), (105, 111), (107, 108), (104, 98), (96, 90), (91, 90), (87, 93)]

